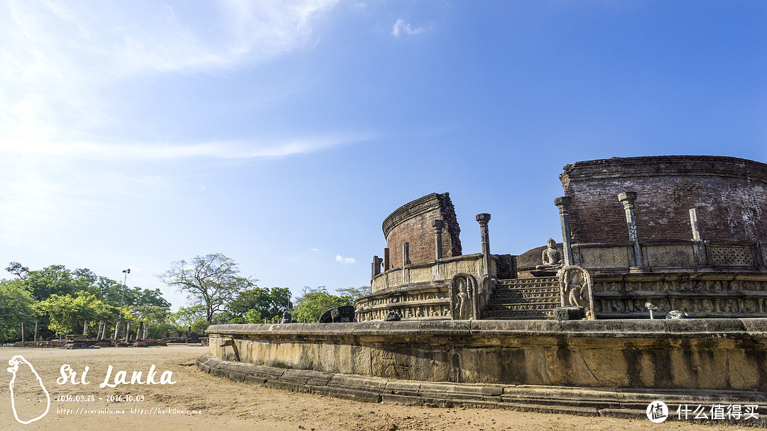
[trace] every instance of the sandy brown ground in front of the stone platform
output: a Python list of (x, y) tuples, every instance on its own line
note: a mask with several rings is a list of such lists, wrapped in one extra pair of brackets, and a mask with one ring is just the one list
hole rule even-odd
[[(521, 413), (509, 410), (403, 407), (385, 403), (361, 403), (308, 393), (258, 387), (213, 377), (199, 371), (194, 361), (207, 348), (176, 345), (167, 348), (101, 348), (81, 350), (0, 348), (0, 431), (26, 429), (277, 429), (330, 430), (448, 429), (482, 431), (534, 429), (583, 431), (596, 429), (754, 429), (750, 426), (699, 425), (667, 421), (621, 420), (561, 414)], [(8, 387), (12, 373), (8, 361), (22, 355), (40, 375), (51, 397), (51, 407), (41, 419), (18, 423)], [(89, 367), (89, 384), (58, 384), (61, 367), (69, 364), (76, 380)], [(100, 387), (109, 365), (112, 378), (151, 365), (161, 374), (171, 371), (175, 384), (120, 384)], [(15, 410), (21, 420), (44, 413), (46, 398), (30, 368), (18, 366), (14, 385)], [(167, 374), (166, 374), (167, 376)], [(133, 410), (131, 410), (133, 409)], [(107, 413), (104, 413), (107, 410)], [(111, 411), (109, 411), (111, 410)]]

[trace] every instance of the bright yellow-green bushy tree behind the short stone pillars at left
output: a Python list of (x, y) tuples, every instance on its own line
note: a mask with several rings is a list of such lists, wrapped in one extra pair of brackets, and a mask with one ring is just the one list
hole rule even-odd
[[(36, 309), (48, 317), (48, 328), (56, 335), (79, 334), (86, 321), (111, 321), (120, 315), (120, 309), (84, 291), (74, 295), (50, 295), (38, 302)], [(123, 317), (134, 318), (132, 310), (123, 309)]]

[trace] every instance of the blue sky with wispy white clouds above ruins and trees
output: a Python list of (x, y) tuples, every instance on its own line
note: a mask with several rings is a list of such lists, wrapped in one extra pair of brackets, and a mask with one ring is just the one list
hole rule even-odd
[(482, 212), (522, 253), (565, 164), (767, 162), (765, 71), (767, 2), (2, 1), (0, 263), (332, 291), (444, 191), (464, 253)]

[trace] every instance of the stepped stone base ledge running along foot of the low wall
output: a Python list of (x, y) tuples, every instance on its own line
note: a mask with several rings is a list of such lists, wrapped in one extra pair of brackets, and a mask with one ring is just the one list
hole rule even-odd
[[(621, 387), (555, 387), (535, 385), (453, 384), (397, 380), (314, 370), (282, 369), (233, 361), (205, 354), (196, 361), (200, 370), (245, 383), (320, 393), (372, 403), (425, 407), (498, 408), (578, 416), (644, 419), (647, 404), (663, 400), (670, 407), (680, 403), (755, 403), (767, 405), (767, 395), (756, 391), (665, 390)], [(716, 423), (723, 423), (716, 421)], [(744, 423), (738, 422), (739, 425)], [(767, 425), (767, 415), (749, 425)]]

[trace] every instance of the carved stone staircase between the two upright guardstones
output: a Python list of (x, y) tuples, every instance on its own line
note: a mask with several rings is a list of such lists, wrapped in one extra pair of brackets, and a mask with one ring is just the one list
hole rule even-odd
[(500, 279), (482, 318), (552, 318), (553, 310), (559, 305), (556, 277)]

